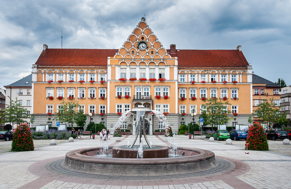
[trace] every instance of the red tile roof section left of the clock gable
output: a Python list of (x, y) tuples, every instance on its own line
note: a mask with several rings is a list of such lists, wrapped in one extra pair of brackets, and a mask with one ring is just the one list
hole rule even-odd
[(46, 49), (36, 64), (40, 66), (107, 66), (107, 57), (118, 49)]

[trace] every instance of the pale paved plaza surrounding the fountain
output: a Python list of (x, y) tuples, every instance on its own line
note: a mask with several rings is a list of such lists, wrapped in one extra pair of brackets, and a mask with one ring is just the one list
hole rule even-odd
[[(148, 136), (152, 145), (169, 145), (163, 142), (163, 136)], [(121, 142), (111, 137), (110, 145), (127, 145), (134, 136), (123, 136)], [(291, 188), (290, 161), (291, 156), (272, 151), (249, 151), (239, 145), (226, 145), (225, 142), (209, 142), (209, 140), (189, 139), (188, 136), (175, 136), (178, 146), (207, 149), (215, 153), (215, 157), (231, 161), (235, 168), (226, 173), (210, 176), (160, 180), (160, 181), (125, 181), (89, 179), (63, 175), (49, 170), (48, 164), (65, 158), (68, 151), (102, 146), (99, 138), (88, 137), (74, 142), (63, 142), (56, 146), (38, 147), (34, 151), (8, 152), (0, 154), (0, 188), (30, 189), (239, 189), (239, 188)], [(0, 141), (1, 142), (1, 141)], [(282, 141), (283, 143), (283, 141)], [(138, 142), (136, 143), (138, 144)], [(234, 142), (235, 144), (235, 142)], [(278, 144), (283, 145), (283, 144)], [(284, 145), (285, 146), (285, 145)]]

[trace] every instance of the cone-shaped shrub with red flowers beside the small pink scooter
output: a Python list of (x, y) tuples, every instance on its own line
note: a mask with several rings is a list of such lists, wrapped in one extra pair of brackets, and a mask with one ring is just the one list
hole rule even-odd
[(246, 143), (249, 143), (249, 150), (269, 150), (269, 145), (264, 132), (264, 128), (257, 122), (249, 127)]

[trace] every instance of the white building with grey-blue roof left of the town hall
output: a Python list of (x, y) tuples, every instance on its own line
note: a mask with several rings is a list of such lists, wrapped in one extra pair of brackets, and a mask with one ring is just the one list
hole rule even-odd
[[(8, 106), (10, 99), (15, 101), (15, 98), (19, 100), (20, 106), (26, 108), (28, 113), (32, 112), (32, 88), (31, 88), (32, 74), (26, 76), (10, 85), (4, 86), (6, 88), (6, 107)], [(27, 124), (30, 125), (30, 120), (26, 119)], [(11, 124), (12, 125), (12, 124)]]

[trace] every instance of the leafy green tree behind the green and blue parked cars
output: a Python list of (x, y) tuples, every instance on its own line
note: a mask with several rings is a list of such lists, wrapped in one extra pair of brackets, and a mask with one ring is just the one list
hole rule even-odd
[(223, 125), (232, 120), (231, 117), (228, 117), (228, 114), (231, 114), (231, 111), (225, 106), (231, 105), (228, 101), (222, 102), (221, 99), (210, 98), (207, 102), (208, 103), (205, 104), (207, 108), (207, 120), (211, 124), (212, 130), (214, 125)]

